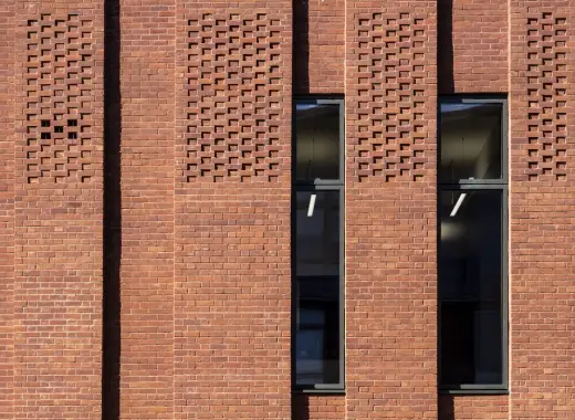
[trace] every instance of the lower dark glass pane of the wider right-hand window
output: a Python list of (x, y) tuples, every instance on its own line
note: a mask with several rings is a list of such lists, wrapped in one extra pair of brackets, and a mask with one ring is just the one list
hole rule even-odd
[(502, 384), (502, 193), (442, 191), (441, 381)]

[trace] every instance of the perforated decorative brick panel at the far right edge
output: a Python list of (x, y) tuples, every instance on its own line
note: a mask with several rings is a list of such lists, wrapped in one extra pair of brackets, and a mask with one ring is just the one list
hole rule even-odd
[(527, 177), (567, 176), (567, 19), (530, 13), (526, 21)]

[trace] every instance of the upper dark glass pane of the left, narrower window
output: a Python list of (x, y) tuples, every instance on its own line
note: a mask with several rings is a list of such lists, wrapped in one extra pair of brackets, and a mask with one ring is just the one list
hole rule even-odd
[(339, 179), (339, 105), (296, 103), (297, 180)]

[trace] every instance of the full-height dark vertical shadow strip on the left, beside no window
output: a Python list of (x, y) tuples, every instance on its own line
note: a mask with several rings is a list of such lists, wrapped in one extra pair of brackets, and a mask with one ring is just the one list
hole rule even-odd
[(119, 0), (105, 0), (102, 420), (119, 419), (119, 264), (122, 253), (119, 35)]

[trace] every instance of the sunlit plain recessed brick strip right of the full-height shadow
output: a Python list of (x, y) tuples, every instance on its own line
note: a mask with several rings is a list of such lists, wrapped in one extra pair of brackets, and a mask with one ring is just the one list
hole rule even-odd
[(176, 1), (121, 0), (121, 418), (174, 416)]

